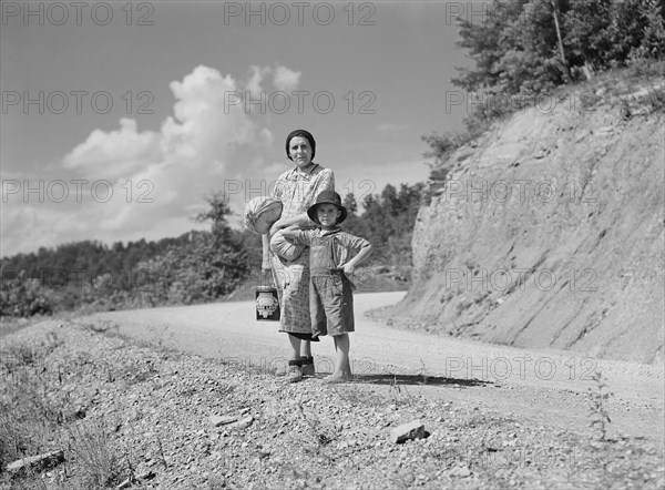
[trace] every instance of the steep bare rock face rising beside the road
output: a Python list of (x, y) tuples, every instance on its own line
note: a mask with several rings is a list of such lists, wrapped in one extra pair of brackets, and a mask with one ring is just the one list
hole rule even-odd
[(524, 110), (433, 169), (413, 285), (393, 313), (485, 341), (662, 363), (665, 114), (653, 96)]

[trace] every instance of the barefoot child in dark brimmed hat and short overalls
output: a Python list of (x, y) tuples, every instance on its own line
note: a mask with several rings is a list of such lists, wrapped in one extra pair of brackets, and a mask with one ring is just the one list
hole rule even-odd
[(285, 229), (284, 238), (296, 245), (309, 245), (309, 313), (313, 337), (330, 334), (335, 339), (335, 371), (325, 378), (330, 382), (351, 379), (349, 331), (354, 326), (354, 295), (348, 275), (371, 254), (365, 238), (342, 232), (338, 226), (347, 217), (339, 194), (324, 191), (307, 210), (317, 229)]

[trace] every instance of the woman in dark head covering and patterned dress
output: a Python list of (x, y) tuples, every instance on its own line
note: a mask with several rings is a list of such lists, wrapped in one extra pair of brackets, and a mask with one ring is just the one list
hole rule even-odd
[[(335, 174), (314, 163), (316, 142), (305, 130), (295, 130), (286, 137), (286, 156), (296, 166), (277, 178), (274, 197), (282, 202), (282, 217), (275, 222), (270, 235), (290, 225), (314, 227), (307, 208), (321, 191), (335, 191)], [(291, 348), (287, 380), (296, 382), (303, 375), (314, 375), (311, 357), (311, 320), (309, 317), (309, 248), (293, 262), (269, 251), (269, 236), (263, 236), (262, 268), (273, 269), (279, 294), (282, 317), (279, 331), (288, 334)]]

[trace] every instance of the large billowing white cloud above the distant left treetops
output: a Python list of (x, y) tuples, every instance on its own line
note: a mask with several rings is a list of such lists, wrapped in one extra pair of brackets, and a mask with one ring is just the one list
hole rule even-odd
[[(174, 236), (196, 227), (190, 220), (192, 210), (203, 204), (204, 195), (225, 190), (228, 180), (243, 186), (260, 182), (266, 172), (262, 155), (273, 151), (274, 135), (257, 115), (245, 112), (244, 104), (229, 104), (228, 99), (229, 93), (260, 88), (270, 73), (258, 67), (250, 71), (244, 86), (203, 65), (171, 82), (173, 115), (160, 131), (140, 131), (132, 119), (120, 120), (113, 131), (92, 131), (60, 167), (60, 174), (89, 181), (82, 202), (73, 196), (58, 205), (17, 198), (3, 205), (2, 254), (78, 239)], [(298, 78), (279, 67), (274, 82), (294, 86)], [(91, 193), (100, 180), (112, 185), (109, 200), (105, 186), (101, 198)], [(244, 193), (234, 198), (243, 205)]]

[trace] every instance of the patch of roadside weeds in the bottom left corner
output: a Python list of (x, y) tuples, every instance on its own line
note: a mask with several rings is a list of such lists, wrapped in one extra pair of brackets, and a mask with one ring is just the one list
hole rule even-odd
[[(85, 353), (63, 350), (64, 339), (51, 330), (38, 341), (8, 340), (0, 356), (0, 482), (19, 488), (43, 488), (38, 478), (50, 461), (9, 474), (7, 466), (24, 457), (64, 451), (64, 462), (53, 468), (75, 488), (117, 484), (126, 474), (122, 451), (109, 427), (85, 420), (85, 407), (72, 380), (93, 366)], [(74, 462), (72, 465), (72, 462)], [(17, 482), (18, 481), (18, 482)]]

